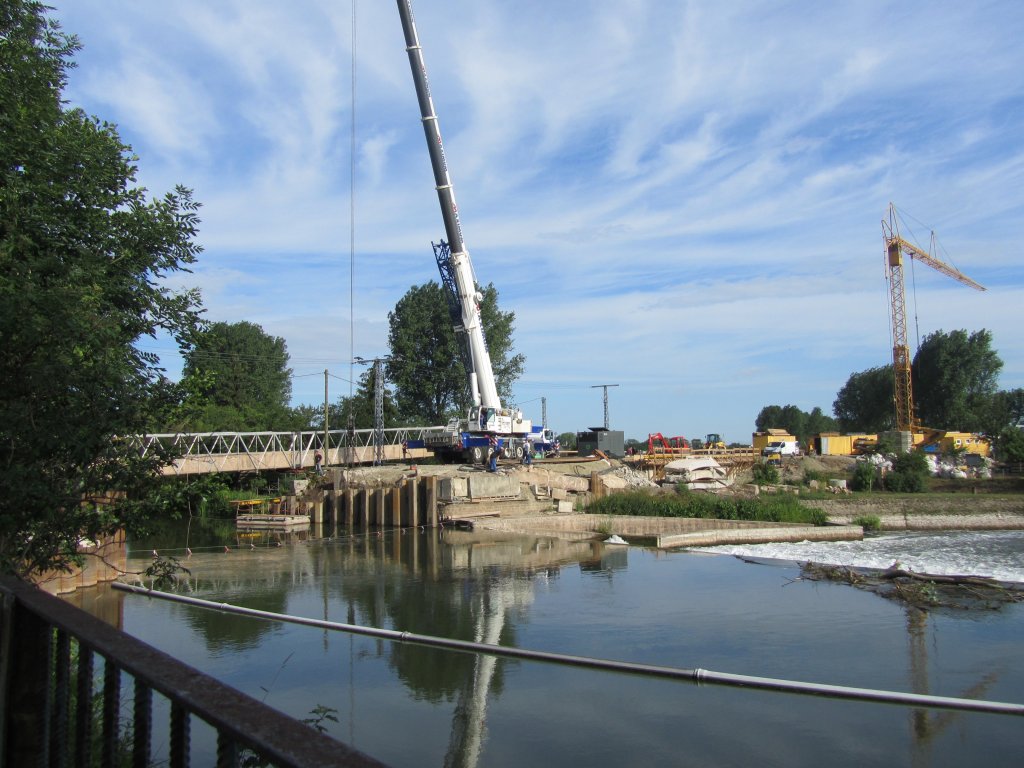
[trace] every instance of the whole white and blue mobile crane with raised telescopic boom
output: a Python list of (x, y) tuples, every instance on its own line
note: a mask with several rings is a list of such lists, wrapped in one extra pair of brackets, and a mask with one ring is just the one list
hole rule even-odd
[(519, 459), (522, 458), (527, 443), (542, 439), (543, 428), (541, 426), (535, 428), (528, 419), (523, 418), (522, 412), (518, 409), (503, 408), (498, 396), (498, 386), (495, 383), (490, 355), (487, 353), (483, 326), (480, 322), (482, 295), (477, 288), (473, 263), (470, 261), (469, 251), (462, 237), (459, 207), (455, 202), (455, 190), (444, 158), (444, 145), (441, 143), (437, 115), (434, 113), (430, 86), (427, 84), (427, 69), (423, 60), (416, 23), (413, 19), (411, 0), (398, 0), (398, 15), (401, 17), (401, 28), (406, 35), (406, 50), (413, 71), (423, 132), (427, 139), (437, 200), (444, 222), (444, 234), (447, 238), (446, 242), (442, 240), (439, 244), (431, 243), (431, 245), (441, 284), (447, 296), (449, 312), (452, 315), (456, 336), (460, 340), (472, 398), (472, 406), (468, 409), (466, 418), (453, 419), (443, 429), (427, 432), (423, 437), (423, 446), (430, 449), (440, 458), (481, 463), (487, 456), (487, 438), (495, 434), (505, 455)]

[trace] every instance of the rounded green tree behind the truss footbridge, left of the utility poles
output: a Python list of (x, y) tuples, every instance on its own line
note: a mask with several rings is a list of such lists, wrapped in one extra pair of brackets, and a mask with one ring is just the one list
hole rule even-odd
[(202, 382), (196, 432), (288, 429), (288, 348), (254, 323), (214, 323), (185, 355), (186, 385)]

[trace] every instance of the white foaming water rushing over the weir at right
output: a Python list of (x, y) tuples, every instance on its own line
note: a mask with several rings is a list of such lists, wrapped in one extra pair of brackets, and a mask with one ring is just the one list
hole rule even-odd
[(1024, 530), (882, 534), (860, 542), (752, 544), (700, 551), (865, 568), (888, 568), (898, 561), (901, 567), (921, 573), (1024, 583)]

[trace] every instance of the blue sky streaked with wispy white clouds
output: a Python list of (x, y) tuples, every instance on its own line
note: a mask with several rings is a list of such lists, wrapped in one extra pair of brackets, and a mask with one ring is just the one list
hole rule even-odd
[[(294, 404), (323, 403), (325, 370), (347, 395), (353, 356), (386, 355), (388, 312), (437, 280), (444, 237), (396, 4), (50, 4), (83, 45), (69, 103), (118, 125), (154, 196), (183, 184), (203, 205), (204, 252), (173, 286), (284, 338)], [(987, 329), (1000, 388), (1024, 386), (1024, 4), (415, 10), (466, 245), (515, 313), (535, 422), (603, 426), (605, 391), (608, 426), (642, 440), (749, 442), (768, 404), (830, 414), (892, 358), (890, 202), (906, 240), (927, 251), (934, 231), (988, 289), (908, 265), (911, 353)], [(172, 344), (142, 346), (177, 375)]]

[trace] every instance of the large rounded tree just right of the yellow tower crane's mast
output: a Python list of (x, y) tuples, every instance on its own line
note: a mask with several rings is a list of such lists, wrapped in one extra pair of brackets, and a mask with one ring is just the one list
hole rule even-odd
[(922, 424), (977, 431), (996, 392), (1002, 360), (985, 330), (937, 331), (913, 357), (914, 411)]

